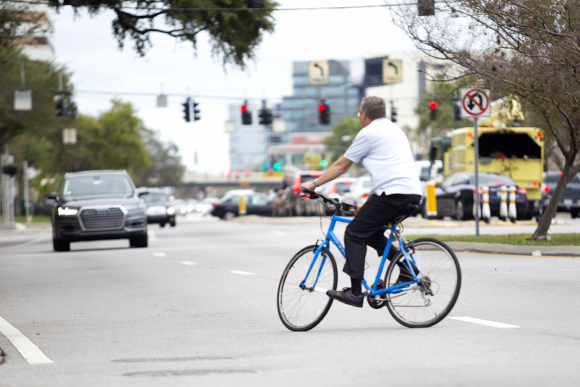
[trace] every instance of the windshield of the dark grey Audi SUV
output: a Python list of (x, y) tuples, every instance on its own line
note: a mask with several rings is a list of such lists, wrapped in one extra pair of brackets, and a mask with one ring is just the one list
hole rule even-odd
[(65, 179), (62, 196), (67, 200), (133, 196), (128, 176), (92, 175)]

